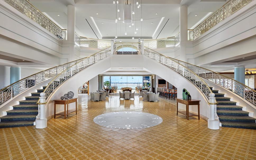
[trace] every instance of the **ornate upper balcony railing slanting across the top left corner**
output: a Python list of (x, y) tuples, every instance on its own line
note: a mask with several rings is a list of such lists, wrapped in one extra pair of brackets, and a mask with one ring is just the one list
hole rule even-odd
[(28, 0), (3, 0), (4, 2), (10, 4), (12, 7), (25, 14), (31, 20), (38, 23), (40, 26), (44, 27), (46, 30), (56, 35), (61, 40), (66, 39), (66, 30), (61, 29), (48, 17), (46, 17), (42, 12), (39, 11), (33, 4)]

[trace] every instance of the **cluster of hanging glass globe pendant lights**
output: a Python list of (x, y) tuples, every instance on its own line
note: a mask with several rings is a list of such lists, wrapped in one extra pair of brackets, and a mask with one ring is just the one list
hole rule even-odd
[[(116, 4), (116, 19), (115, 19), (116, 30), (117, 30), (117, 22), (118, 22), (118, 20), (120, 21), (120, 36), (121, 36), (121, 26), (122, 26), (122, 23), (125, 24), (124, 35), (127, 35), (127, 31), (126, 31), (126, 27), (127, 26), (129, 28), (132, 27), (133, 28), (132, 32), (134, 34), (137, 34), (137, 31), (139, 30), (139, 28), (137, 27), (138, 25), (136, 24), (136, 20), (138, 20), (138, 18), (140, 18), (140, 21), (143, 21), (143, 19), (142, 19), (142, 3), (140, 1), (142, 1), (142, 0), (119, 0), (119, 1), (113, 1), (113, 4)], [(140, 15), (140, 17), (137, 14), (139, 8), (141, 8), (141, 15)], [(135, 18), (135, 20), (134, 20), (134, 18)], [(129, 25), (128, 25), (128, 23), (129, 23)], [(132, 33), (132, 35), (133, 35), (133, 33)], [(117, 38), (117, 31), (116, 31), (115, 39), (116, 38)], [(134, 36), (132, 36), (132, 39), (134, 40)], [(120, 42), (122, 42), (122, 40), (120, 40)]]

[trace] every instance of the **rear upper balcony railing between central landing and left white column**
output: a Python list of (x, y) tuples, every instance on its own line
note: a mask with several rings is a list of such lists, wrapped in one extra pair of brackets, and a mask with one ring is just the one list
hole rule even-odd
[(79, 46), (83, 46), (83, 47), (104, 49), (111, 46), (111, 40), (99, 40), (99, 39), (93, 39), (93, 38), (87, 38), (87, 37), (80, 37), (77, 33), (76, 33), (75, 41)]

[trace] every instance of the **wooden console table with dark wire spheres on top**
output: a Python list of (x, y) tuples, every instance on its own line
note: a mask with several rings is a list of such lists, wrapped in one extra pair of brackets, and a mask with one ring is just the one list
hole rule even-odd
[[(56, 117), (56, 115), (64, 115), (64, 119), (66, 119), (66, 116), (72, 112), (76, 112), (77, 114), (77, 98), (74, 99), (69, 99), (69, 100), (53, 100), (54, 101), (54, 118)], [(68, 110), (68, 104), (70, 103), (76, 103), (76, 110)], [(56, 114), (56, 104), (64, 104), (64, 112), (58, 113)], [(66, 113), (66, 105), (67, 105), (67, 113)]]

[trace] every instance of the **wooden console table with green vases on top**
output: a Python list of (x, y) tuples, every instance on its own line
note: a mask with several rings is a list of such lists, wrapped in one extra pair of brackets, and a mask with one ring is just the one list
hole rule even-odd
[[(185, 104), (186, 105), (186, 111), (178, 111), (178, 103)], [(189, 105), (197, 105), (198, 115), (189, 112)], [(178, 112), (179, 112), (179, 113), (185, 114), (186, 117), (187, 117), (187, 120), (189, 120), (189, 117), (191, 117), (191, 116), (197, 116), (198, 119), (200, 119), (199, 106), (200, 106), (200, 100), (196, 100), (196, 99), (186, 100), (186, 99), (182, 99), (182, 98), (177, 98), (177, 115), (178, 115)]]

